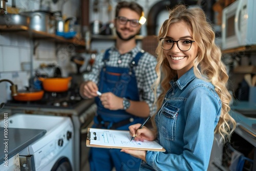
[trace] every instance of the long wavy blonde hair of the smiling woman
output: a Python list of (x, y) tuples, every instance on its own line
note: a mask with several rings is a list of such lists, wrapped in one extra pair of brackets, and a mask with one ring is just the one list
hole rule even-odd
[[(185, 5), (177, 5), (173, 10), (169, 10), (169, 19), (163, 23), (158, 39), (166, 36), (170, 24), (181, 21), (184, 21), (191, 29), (195, 43), (198, 45), (198, 55), (194, 60), (196, 77), (211, 82), (222, 102), (221, 116), (215, 133), (220, 134), (224, 142), (229, 141), (230, 135), (236, 128), (236, 121), (229, 115), (231, 95), (226, 88), (228, 74), (221, 61), (221, 50), (215, 44), (215, 32), (207, 22), (204, 11), (201, 8), (186, 8)], [(159, 110), (166, 92), (170, 89), (169, 81), (177, 75), (177, 72), (170, 68), (160, 44), (158, 44), (156, 54), (158, 56), (156, 65), (158, 78), (153, 84), (153, 89), (156, 97), (156, 87), (161, 82), (162, 93), (155, 101)]]

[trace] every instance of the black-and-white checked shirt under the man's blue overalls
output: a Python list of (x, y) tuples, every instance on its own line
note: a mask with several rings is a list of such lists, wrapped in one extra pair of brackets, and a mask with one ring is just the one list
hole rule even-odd
[[(113, 46), (111, 47), (110, 58), (109, 61), (106, 62), (106, 65), (111, 67), (130, 68), (130, 62), (139, 51), (141, 51), (141, 48), (136, 46), (128, 53), (120, 54), (115, 46)], [(96, 84), (99, 82), (100, 71), (104, 65), (104, 62), (102, 61), (103, 56), (104, 53), (101, 53), (96, 57), (95, 63), (92, 67), (92, 72), (88, 75), (87, 80), (91, 80)], [(118, 61), (121, 61), (121, 63)], [(145, 101), (148, 104), (150, 107), (151, 115), (155, 114), (156, 112), (156, 106), (154, 105), (153, 107), (154, 92), (151, 89), (153, 82), (157, 78), (157, 74), (155, 72), (156, 63), (156, 57), (145, 52), (141, 56), (138, 62), (138, 66), (134, 67), (137, 87), (140, 93), (140, 101)], [(157, 96), (159, 96), (160, 87), (158, 88), (157, 92)]]

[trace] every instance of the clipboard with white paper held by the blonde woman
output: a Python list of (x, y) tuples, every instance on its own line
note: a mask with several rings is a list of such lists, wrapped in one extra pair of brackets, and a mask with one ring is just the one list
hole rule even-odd
[(131, 141), (131, 138), (129, 131), (88, 128), (86, 146), (165, 152), (156, 141)]

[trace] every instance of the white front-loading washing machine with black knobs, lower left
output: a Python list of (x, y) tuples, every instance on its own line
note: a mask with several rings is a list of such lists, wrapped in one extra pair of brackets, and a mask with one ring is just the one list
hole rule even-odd
[(20, 170), (74, 170), (74, 127), (69, 117), (14, 114), (8, 118), (8, 127), (47, 131), (19, 152)]

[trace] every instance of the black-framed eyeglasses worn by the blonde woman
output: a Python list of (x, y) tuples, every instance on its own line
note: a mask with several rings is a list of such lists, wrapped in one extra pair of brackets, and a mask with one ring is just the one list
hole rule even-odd
[(191, 48), (192, 43), (195, 42), (193, 40), (188, 40), (188, 39), (180, 39), (180, 40), (174, 41), (173, 39), (166, 38), (166, 37), (160, 38), (159, 40), (163, 50), (172, 49), (174, 46), (174, 43), (176, 42), (178, 45), (178, 48), (181, 51), (188, 51)]

